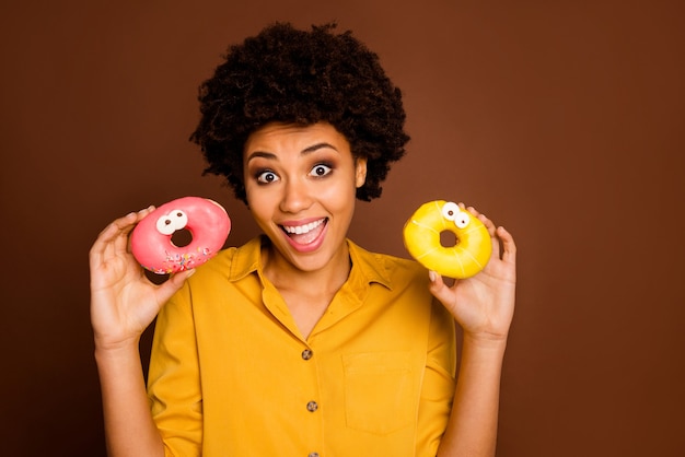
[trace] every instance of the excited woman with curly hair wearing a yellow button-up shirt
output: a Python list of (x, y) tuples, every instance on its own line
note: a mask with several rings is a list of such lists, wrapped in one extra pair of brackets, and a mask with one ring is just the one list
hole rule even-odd
[[(451, 288), (347, 238), (356, 198), (380, 196), (408, 141), (378, 56), (333, 25), (275, 24), (230, 48), (200, 105), (207, 172), (263, 234), (158, 286), (127, 250), (152, 208), (101, 233), (91, 313), (111, 455), (494, 455), (511, 235), (469, 208), (495, 251)], [(155, 316), (146, 387), (138, 342)]]

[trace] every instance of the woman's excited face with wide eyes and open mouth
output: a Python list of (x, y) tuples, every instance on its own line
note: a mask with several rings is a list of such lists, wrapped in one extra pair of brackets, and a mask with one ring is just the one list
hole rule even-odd
[(272, 242), (269, 262), (301, 271), (349, 263), (345, 239), (367, 162), (341, 133), (324, 122), (269, 124), (245, 142), (244, 164), (247, 203)]

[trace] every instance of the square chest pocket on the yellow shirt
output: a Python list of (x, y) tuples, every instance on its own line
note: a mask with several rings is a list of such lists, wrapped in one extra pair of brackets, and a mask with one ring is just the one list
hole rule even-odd
[(342, 356), (345, 414), (351, 429), (388, 434), (416, 418), (416, 382), (408, 352)]

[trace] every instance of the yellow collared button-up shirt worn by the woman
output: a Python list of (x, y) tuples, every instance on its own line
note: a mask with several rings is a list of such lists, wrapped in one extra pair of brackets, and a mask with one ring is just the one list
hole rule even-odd
[(436, 455), (454, 321), (418, 263), (348, 244), (348, 281), (306, 339), (263, 274), (260, 238), (164, 306), (148, 384), (167, 456)]

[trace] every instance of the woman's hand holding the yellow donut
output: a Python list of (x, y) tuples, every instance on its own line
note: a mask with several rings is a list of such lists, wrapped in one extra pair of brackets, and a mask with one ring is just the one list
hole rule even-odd
[[(462, 203), (460, 207), (464, 208)], [(430, 291), (452, 313), (465, 336), (506, 340), (514, 309), (516, 247), (504, 227), (496, 227), (492, 221), (473, 207), (467, 210), (490, 233), (492, 256), (483, 271), (467, 279), (455, 280), (451, 288), (440, 274), (431, 271)]]

